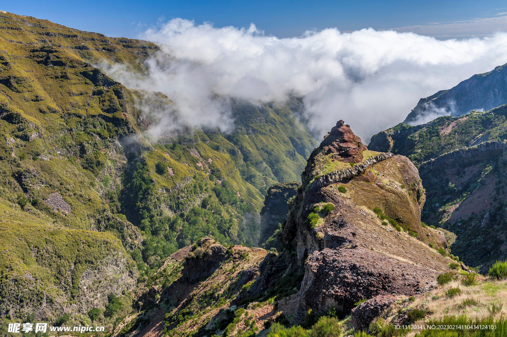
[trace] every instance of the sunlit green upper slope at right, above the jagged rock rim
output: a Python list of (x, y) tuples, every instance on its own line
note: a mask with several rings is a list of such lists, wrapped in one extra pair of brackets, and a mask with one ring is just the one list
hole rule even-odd
[(460, 148), (507, 139), (507, 106), (460, 117), (444, 116), (425, 124), (400, 123), (372, 136), (368, 149), (409, 157), (416, 165)]

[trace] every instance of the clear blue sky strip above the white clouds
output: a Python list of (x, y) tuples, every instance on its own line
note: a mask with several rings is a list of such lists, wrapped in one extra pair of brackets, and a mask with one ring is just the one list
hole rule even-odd
[(0, 10), (48, 19), (108, 36), (137, 37), (160, 18), (215, 27), (250, 23), (277, 37), (337, 27), (399, 28), (425, 35), (487, 35), (507, 30), (505, 1), (49, 1), (2, 0)]

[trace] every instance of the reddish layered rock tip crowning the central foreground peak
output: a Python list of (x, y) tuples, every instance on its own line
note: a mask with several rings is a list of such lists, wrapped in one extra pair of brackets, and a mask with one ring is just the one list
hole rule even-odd
[[(324, 140), (318, 147), (325, 154), (334, 154), (335, 160), (344, 162), (360, 162), (363, 160), (363, 151), (366, 145), (361, 139), (354, 135), (350, 129), (350, 125), (345, 124), (343, 120), (339, 120), (336, 125), (324, 136)], [(319, 151), (319, 152), (320, 152)]]

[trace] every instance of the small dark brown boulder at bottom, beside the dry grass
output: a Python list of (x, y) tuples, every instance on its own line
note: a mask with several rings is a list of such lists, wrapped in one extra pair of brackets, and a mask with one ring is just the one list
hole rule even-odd
[(370, 323), (396, 301), (394, 296), (378, 295), (366, 302), (361, 303), (350, 314), (350, 322), (355, 330), (367, 330)]

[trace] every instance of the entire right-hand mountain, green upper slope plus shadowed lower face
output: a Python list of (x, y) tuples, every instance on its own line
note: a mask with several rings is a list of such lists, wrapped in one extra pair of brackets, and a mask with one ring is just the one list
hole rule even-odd
[(374, 135), (369, 149), (406, 155), (419, 166), (427, 195), (423, 222), (456, 233), (453, 252), (486, 273), (507, 258), (502, 216), (507, 210), (506, 139), (503, 105), (415, 127), (402, 123)]

